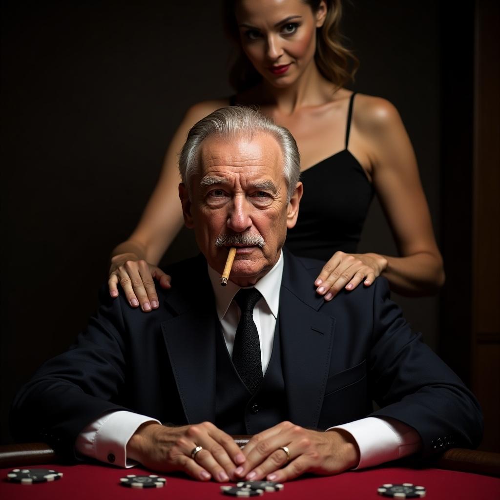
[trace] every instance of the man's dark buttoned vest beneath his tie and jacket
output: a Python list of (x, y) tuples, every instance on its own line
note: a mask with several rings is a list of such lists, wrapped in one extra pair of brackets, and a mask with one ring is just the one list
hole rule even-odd
[(260, 387), (250, 394), (232, 364), (217, 321), (215, 425), (228, 434), (256, 434), (287, 419), (281, 370), (279, 315), (269, 364)]

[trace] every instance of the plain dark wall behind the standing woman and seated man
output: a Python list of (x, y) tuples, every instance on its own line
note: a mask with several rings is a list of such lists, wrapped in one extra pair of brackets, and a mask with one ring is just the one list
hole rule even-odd
[[(343, 19), (361, 61), (351, 88), (398, 108), (438, 243), (448, 84), (472, 71), (467, 53), (443, 63), (448, 31), (467, 37), (473, 21), (470, 3), (458, 25), (445, 3), (354, 0)], [(93, 311), (109, 252), (137, 223), (183, 113), (232, 93), (219, 17), (218, 1), (2, 2), (0, 442), (17, 388)], [(395, 254), (376, 201), (360, 250)], [(165, 262), (195, 251), (183, 230)], [(439, 297), (395, 298), (442, 352)]]

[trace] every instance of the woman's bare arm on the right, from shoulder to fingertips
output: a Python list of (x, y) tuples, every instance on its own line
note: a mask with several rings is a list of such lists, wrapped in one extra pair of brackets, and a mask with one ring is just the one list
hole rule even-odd
[(342, 287), (352, 289), (363, 279), (368, 286), (380, 274), (403, 295), (433, 293), (444, 283), (442, 257), (401, 118), (385, 99), (356, 95), (352, 127), (400, 256), (336, 252), (316, 280), (318, 293), (331, 299)]

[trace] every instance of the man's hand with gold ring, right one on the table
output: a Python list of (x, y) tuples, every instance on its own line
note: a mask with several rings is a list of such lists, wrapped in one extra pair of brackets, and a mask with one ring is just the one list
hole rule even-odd
[[(288, 448), (289, 463), (282, 446)], [(304, 472), (337, 474), (359, 463), (359, 450), (348, 432), (318, 432), (291, 422), (281, 422), (255, 434), (243, 453), (246, 462), (236, 469), (236, 474), (246, 480), (265, 477), (281, 482)]]

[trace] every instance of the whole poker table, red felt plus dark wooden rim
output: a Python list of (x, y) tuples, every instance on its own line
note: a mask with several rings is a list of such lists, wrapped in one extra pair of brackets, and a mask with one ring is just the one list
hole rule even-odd
[[(244, 444), (248, 436), (234, 436)], [(107, 464), (75, 465), (58, 462), (54, 450), (45, 443), (0, 445), (0, 498), (9, 500), (94, 500), (99, 498), (172, 498), (193, 500), (228, 498), (220, 491), (220, 483), (195, 481), (182, 474), (159, 474), (166, 478), (161, 488), (135, 489), (120, 484), (127, 474), (149, 475), (142, 467), (123, 469)], [(60, 479), (35, 484), (19, 484), (7, 480), (14, 468), (48, 468), (62, 472)], [(314, 500), (384, 498), (377, 488), (386, 483), (409, 482), (425, 486), (429, 500), (463, 498), (481, 500), (500, 498), (500, 454), (460, 448), (447, 450), (425, 468), (403, 462), (391, 462), (371, 469), (343, 472), (317, 477), (303, 476), (284, 483), (277, 492), (263, 496), (276, 500), (303, 500), (312, 495)]]

